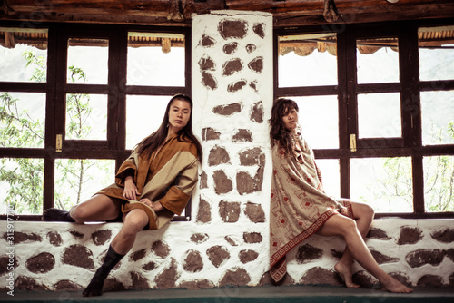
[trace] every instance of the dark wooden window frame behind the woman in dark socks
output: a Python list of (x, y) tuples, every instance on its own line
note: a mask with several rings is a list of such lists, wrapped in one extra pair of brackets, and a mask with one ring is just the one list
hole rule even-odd
[[(0, 22), (3, 27), (21, 27), (17, 22)], [(115, 171), (131, 154), (126, 145), (126, 95), (191, 95), (191, 28), (110, 24), (40, 24), (48, 30), (46, 83), (0, 82), (2, 92), (46, 93), (44, 148), (0, 148), (2, 158), (44, 159), (43, 210), (54, 206), (54, 165), (56, 159), (105, 159), (115, 161)], [(184, 34), (184, 86), (127, 85), (126, 64), (128, 33)], [(67, 39), (107, 38), (109, 40), (108, 82), (106, 84), (66, 83)], [(66, 93), (103, 93), (108, 96), (107, 140), (71, 140), (72, 149), (55, 152), (56, 134), (64, 134)], [(153, 130), (151, 130), (153, 131)], [(14, 214), (15, 220), (41, 220), (41, 215)], [(6, 220), (8, 215), (0, 215)], [(11, 217), (11, 215), (9, 215)], [(191, 200), (185, 214), (173, 221), (191, 220)]]

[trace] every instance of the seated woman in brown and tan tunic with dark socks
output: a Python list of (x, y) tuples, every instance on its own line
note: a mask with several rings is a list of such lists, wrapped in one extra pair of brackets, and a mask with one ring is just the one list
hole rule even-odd
[(45, 210), (43, 220), (87, 221), (123, 219), (103, 265), (83, 296), (100, 296), (104, 280), (133, 248), (140, 230), (156, 230), (180, 214), (197, 183), (202, 146), (192, 134), (192, 100), (178, 94), (167, 104), (160, 128), (143, 139), (123, 162), (115, 183), (91, 199), (65, 210)]

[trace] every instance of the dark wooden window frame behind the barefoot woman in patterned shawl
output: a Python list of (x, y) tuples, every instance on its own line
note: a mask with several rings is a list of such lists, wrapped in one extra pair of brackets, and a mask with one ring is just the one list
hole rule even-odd
[[(375, 218), (452, 219), (454, 212), (426, 212), (424, 205), (423, 157), (454, 155), (454, 144), (424, 146), (421, 142), (419, 93), (453, 90), (449, 81), (419, 82), (418, 29), (424, 26), (452, 25), (454, 18), (429, 21), (387, 22), (378, 24), (340, 24), (339, 26), (303, 26), (279, 28), (274, 31), (274, 98), (337, 95), (339, 108), (339, 148), (314, 149), (318, 159), (340, 161), (341, 197), (350, 198), (350, 159), (369, 157), (410, 157), (413, 180), (413, 212), (376, 213)], [(312, 87), (279, 87), (279, 36), (291, 34), (337, 34), (338, 85)], [(398, 37), (399, 83), (358, 84), (356, 73), (356, 40), (373, 37)], [(435, 87), (435, 89), (434, 89)], [(400, 93), (402, 138), (362, 139), (358, 150), (350, 151), (350, 133), (358, 138), (357, 93)], [(415, 110), (416, 109), (416, 110)], [(411, 128), (409, 125), (416, 125)], [(371, 149), (374, 141), (380, 148)]]

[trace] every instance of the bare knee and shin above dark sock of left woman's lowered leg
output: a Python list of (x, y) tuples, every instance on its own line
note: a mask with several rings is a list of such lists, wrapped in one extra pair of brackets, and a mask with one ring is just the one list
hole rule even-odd
[(125, 255), (133, 248), (137, 232), (143, 230), (148, 223), (148, 215), (143, 210), (131, 210), (123, 215), (123, 227), (111, 242), (112, 248)]

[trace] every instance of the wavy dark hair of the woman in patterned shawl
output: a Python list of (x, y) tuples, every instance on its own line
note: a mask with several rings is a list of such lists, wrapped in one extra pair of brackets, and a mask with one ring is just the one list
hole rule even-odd
[(271, 125), (270, 130), (270, 141), (271, 146), (274, 146), (276, 142), (284, 149), (286, 153), (290, 153), (293, 150), (292, 134), (285, 128), (282, 121), (282, 116), (287, 112), (295, 109), (299, 111), (298, 104), (291, 99), (278, 98), (272, 104), (271, 119), (268, 121)]

